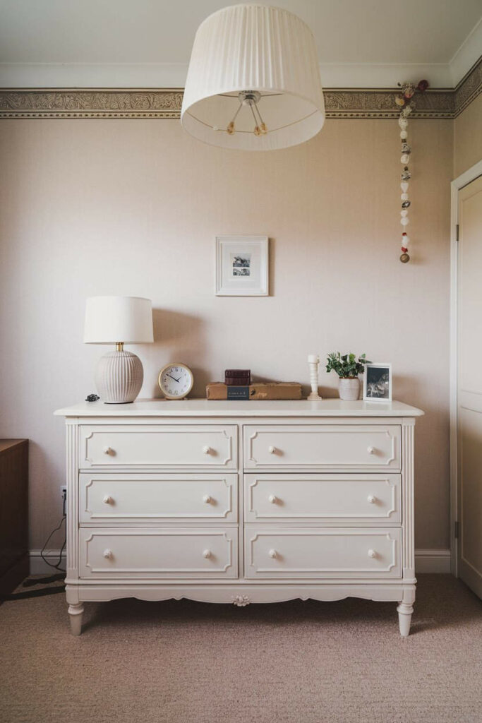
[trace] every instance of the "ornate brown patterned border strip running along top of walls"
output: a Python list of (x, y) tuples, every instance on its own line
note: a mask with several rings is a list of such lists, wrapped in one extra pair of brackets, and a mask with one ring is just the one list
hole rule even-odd
[[(482, 92), (482, 58), (457, 87), (416, 97), (412, 118), (452, 119)], [(326, 89), (327, 118), (396, 118), (396, 89)], [(183, 90), (27, 88), (0, 90), (0, 118), (179, 118)]]

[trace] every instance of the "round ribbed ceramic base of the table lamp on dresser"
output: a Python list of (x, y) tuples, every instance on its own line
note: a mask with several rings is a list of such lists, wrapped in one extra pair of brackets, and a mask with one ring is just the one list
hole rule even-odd
[(95, 385), (106, 404), (133, 402), (143, 379), (142, 362), (131, 351), (110, 351), (99, 359), (95, 371)]

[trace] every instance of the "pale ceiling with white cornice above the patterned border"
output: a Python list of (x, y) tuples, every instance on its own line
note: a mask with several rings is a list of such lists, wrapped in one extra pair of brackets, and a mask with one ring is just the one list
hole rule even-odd
[[(199, 23), (229, 4), (0, 0), (0, 86), (182, 87)], [(311, 27), (324, 87), (453, 87), (482, 54), (482, 0), (273, 4)]]

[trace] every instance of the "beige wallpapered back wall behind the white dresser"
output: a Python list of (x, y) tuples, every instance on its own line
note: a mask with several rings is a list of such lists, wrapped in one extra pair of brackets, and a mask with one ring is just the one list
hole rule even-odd
[[(63, 421), (92, 390), (85, 297), (148, 296), (157, 341), (136, 351), (143, 396), (165, 361), (308, 383), (306, 355), (392, 361), (416, 431), (416, 546), (448, 547), (449, 181), (452, 121), (410, 122), (413, 261), (400, 254), (396, 121), (328, 120), (275, 153), (218, 150), (172, 120), (0, 126), (1, 429), (30, 437), (31, 547), (60, 516)], [(270, 236), (269, 298), (213, 293), (215, 234)], [(335, 377), (321, 373), (324, 393)]]

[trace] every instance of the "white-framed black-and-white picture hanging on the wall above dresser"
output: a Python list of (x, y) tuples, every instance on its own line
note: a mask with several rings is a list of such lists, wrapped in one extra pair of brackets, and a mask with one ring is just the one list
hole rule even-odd
[(216, 296), (268, 293), (268, 237), (216, 236)]

